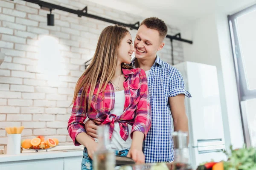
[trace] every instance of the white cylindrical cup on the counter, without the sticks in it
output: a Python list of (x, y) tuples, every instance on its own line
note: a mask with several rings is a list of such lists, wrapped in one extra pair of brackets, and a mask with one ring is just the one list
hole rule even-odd
[(21, 134), (8, 134), (7, 155), (20, 154)]

